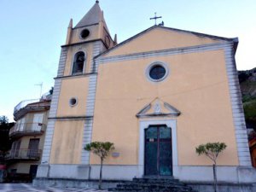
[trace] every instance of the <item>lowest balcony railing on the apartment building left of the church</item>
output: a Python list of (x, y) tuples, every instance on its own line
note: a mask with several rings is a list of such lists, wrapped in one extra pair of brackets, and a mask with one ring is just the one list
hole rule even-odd
[(42, 154), (42, 149), (11, 149), (9, 154), (5, 156), (6, 160), (39, 160)]

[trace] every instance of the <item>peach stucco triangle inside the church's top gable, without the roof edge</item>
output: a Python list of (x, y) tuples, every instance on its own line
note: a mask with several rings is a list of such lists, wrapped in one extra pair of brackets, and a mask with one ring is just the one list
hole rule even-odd
[(200, 44), (216, 44), (219, 40), (202, 38), (187, 32), (176, 32), (164, 28), (154, 28), (139, 36), (127, 44), (113, 49), (104, 56), (126, 55), (132, 53), (146, 52), (160, 49), (173, 49)]

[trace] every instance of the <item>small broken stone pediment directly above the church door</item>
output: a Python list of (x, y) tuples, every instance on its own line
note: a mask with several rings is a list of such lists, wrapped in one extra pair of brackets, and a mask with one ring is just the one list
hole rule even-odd
[(139, 113), (137, 117), (154, 117), (154, 116), (174, 116), (180, 115), (180, 111), (174, 108), (167, 102), (163, 102), (160, 98), (155, 98), (153, 102), (146, 105)]

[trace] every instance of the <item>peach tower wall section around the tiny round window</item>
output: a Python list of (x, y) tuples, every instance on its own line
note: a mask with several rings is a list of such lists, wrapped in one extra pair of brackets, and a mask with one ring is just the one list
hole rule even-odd
[[(61, 81), (61, 93), (58, 102), (57, 117), (85, 115), (88, 81), (88, 77), (63, 79)], [(69, 104), (69, 100), (72, 97), (77, 98), (78, 101), (78, 104), (73, 107)]]

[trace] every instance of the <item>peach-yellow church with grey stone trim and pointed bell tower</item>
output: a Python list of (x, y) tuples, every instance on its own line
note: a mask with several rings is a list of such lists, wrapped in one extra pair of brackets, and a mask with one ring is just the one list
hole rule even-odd
[(100, 160), (84, 150), (97, 141), (115, 147), (104, 180), (212, 182), (212, 162), (195, 148), (221, 142), (218, 180), (255, 181), (237, 45), (238, 38), (157, 25), (118, 44), (96, 1), (67, 28), (36, 180), (97, 179)]

